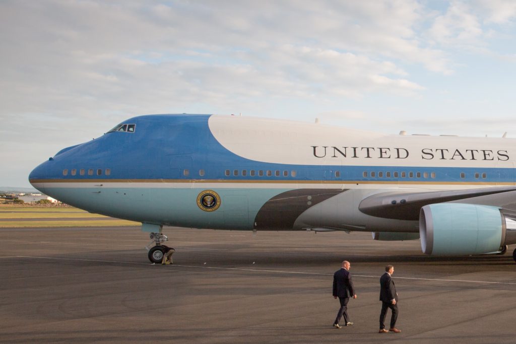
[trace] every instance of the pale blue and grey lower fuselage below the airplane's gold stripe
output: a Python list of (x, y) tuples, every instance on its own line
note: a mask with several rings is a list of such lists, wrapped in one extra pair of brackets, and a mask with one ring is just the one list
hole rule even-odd
[[(191, 185), (190, 185), (191, 186)], [(372, 189), (176, 188), (124, 185), (48, 187), (70, 205), (111, 217), (191, 228), (292, 231), (330, 228), (367, 232), (417, 232), (417, 221), (382, 219), (358, 210)], [(215, 208), (200, 202), (213, 195)]]

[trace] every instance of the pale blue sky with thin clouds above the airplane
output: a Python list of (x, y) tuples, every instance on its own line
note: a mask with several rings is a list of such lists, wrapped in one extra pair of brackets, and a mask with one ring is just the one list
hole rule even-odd
[(516, 137), (516, 2), (0, 0), (0, 186), (140, 114)]

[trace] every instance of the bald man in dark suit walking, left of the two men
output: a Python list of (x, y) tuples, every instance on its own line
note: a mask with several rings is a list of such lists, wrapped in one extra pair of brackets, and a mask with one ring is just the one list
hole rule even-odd
[(341, 308), (338, 309), (337, 317), (333, 322), (333, 327), (340, 329), (342, 326), (338, 324), (341, 317), (344, 315), (345, 326), (351, 326), (353, 323), (349, 321), (348, 316), (348, 302), (349, 298), (357, 298), (357, 294), (354, 292), (353, 282), (351, 281), (351, 275), (349, 274), (349, 268), (351, 264), (349, 261), (344, 260), (341, 268), (333, 274), (333, 297), (341, 302)]

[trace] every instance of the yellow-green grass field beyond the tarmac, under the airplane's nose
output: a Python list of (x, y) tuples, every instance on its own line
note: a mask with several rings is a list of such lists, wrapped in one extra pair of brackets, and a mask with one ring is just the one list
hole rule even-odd
[(140, 223), (110, 218), (73, 207), (0, 204), (0, 228), (114, 227)]

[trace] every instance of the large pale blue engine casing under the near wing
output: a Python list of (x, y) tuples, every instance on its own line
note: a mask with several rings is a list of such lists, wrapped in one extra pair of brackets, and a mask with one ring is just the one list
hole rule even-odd
[(421, 249), (431, 255), (496, 252), (506, 239), (506, 218), (498, 207), (430, 204), (420, 211)]

